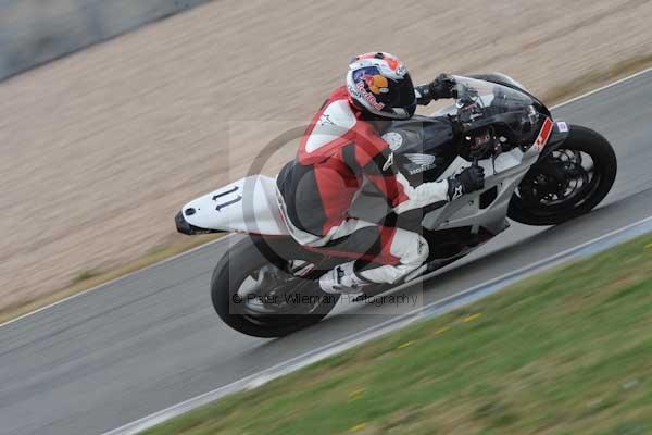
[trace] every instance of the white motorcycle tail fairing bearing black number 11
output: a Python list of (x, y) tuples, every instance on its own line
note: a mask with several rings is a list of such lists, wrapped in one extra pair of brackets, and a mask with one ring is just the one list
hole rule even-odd
[(184, 219), (203, 229), (288, 235), (276, 202), (276, 182), (252, 175), (184, 206)]

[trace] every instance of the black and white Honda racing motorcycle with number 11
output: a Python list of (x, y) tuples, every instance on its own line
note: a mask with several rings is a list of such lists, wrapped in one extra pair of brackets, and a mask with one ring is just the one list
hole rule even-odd
[[(557, 225), (588, 213), (609, 194), (616, 156), (600, 134), (562, 121), (527, 89), (503, 74), (453, 76), (455, 102), (430, 116), (394, 121), (391, 164), (414, 186), (482, 166), (484, 189), (444, 206), (397, 215), (372, 184), (364, 184), (350, 214), (421, 233), (426, 263), (394, 286), (468, 254), (509, 228)], [(350, 261), (294, 241), (286, 227), (275, 179), (250, 175), (197, 198), (175, 216), (186, 234), (236, 232), (238, 240), (211, 278), (215, 311), (233, 328), (279, 337), (318, 323), (338, 302), (321, 275)], [(379, 295), (388, 285), (365, 287)]]

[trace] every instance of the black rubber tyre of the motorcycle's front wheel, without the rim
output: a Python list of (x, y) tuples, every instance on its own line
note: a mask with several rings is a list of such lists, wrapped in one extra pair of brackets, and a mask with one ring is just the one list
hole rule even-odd
[[(610, 142), (599, 133), (579, 125), (570, 125), (568, 137), (559, 150), (588, 154), (593, 161), (593, 178), (584, 196), (554, 206), (526, 203), (518, 194), (510, 201), (507, 216), (526, 225), (557, 225), (591, 211), (611, 190), (617, 172), (616, 154)], [(535, 164), (521, 183), (519, 191), (528, 179), (542, 172), (543, 162)], [(559, 201), (557, 201), (559, 202)]]

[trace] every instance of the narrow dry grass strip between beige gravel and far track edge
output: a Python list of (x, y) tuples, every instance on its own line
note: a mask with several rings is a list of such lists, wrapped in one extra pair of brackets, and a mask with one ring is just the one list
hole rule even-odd
[[(559, 86), (553, 86), (550, 88), (550, 90), (542, 94), (542, 99), (548, 104), (553, 105), (573, 97), (582, 95), (591, 89), (607, 85), (609, 83), (612, 83), (620, 77), (626, 77), (636, 73), (637, 71), (642, 71), (649, 66), (652, 66), (652, 54), (635, 57), (617, 65), (613, 65), (604, 70), (595, 70), (584, 77)], [(187, 239), (183, 243), (172, 244), (163, 247), (162, 249), (153, 250), (152, 252), (139, 259), (112, 268), (108, 271), (80, 271), (77, 274), (77, 277), (71, 283), (71, 286), (36, 300), (26, 300), (17, 304), (0, 308), (0, 323), (7, 322), (30, 311), (35, 311), (39, 308), (57, 302), (58, 300), (70, 297), (77, 293), (85, 291), (89, 288), (96, 287), (131, 272), (136, 272), (142, 268), (176, 256), (177, 253), (206, 244), (215, 238), (215, 236), (201, 236)]]

